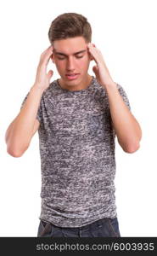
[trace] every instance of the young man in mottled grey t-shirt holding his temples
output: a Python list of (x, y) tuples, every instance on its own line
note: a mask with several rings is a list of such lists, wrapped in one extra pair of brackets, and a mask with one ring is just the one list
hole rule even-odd
[[(38, 130), (42, 210), (37, 236), (120, 236), (115, 206), (115, 134), (133, 153), (142, 131), (116, 84), (87, 19), (59, 15), (49, 32), (35, 83), (8, 126), (8, 154), (20, 157)], [(56, 65), (60, 78), (50, 83)], [(95, 77), (89, 75), (90, 61)], [(25, 103), (25, 104), (24, 104)]]

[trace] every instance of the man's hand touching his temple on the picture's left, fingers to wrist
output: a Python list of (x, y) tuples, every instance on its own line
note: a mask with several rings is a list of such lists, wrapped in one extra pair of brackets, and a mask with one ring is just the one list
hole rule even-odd
[(42, 52), (40, 61), (36, 71), (36, 80), (34, 86), (46, 90), (50, 84), (50, 79), (53, 76), (53, 70), (49, 70), (47, 73), (48, 61), (53, 55), (53, 46), (49, 46), (48, 49)]

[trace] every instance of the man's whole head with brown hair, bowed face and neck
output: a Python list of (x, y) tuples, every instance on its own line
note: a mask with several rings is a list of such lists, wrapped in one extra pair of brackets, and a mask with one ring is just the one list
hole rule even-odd
[[(92, 38), (92, 29), (87, 19), (75, 13), (59, 15), (49, 28), (48, 38), (53, 45), (52, 60), (62, 84), (79, 85), (87, 80), (87, 70), (93, 60), (87, 49)], [(72, 77), (68, 74), (78, 75)]]

